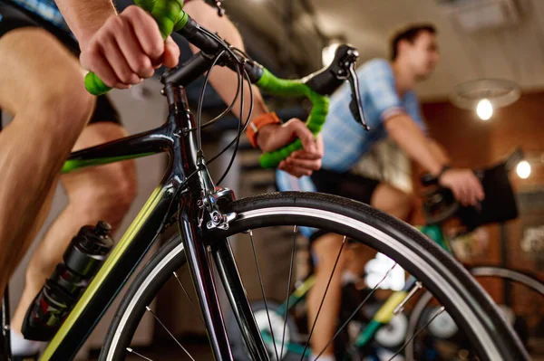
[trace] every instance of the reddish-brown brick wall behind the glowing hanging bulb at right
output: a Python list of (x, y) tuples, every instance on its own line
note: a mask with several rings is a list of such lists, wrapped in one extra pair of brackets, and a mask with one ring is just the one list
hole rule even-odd
[[(423, 104), (431, 136), (448, 149), (455, 166), (486, 165), (518, 146), (529, 157), (541, 156), (543, 110), (544, 92), (523, 94), (510, 107), (496, 109), (487, 122), (478, 119), (473, 111), (457, 109), (447, 101)], [(544, 166), (532, 166), (529, 179), (512, 178), (517, 191), (544, 186)]]

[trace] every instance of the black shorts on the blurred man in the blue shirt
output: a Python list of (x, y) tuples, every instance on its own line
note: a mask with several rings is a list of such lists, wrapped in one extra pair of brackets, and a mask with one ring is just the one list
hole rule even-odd
[[(370, 204), (372, 195), (380, 181), (357, 176), (352, 173), (337, 173), (328, 169), (320, 169), (310, 176), (317, 192), (329, 195), (340, 195), (355, 201)], [(310, 237), (310, 242), (326, 234), (325, 231), (317, 231)]]

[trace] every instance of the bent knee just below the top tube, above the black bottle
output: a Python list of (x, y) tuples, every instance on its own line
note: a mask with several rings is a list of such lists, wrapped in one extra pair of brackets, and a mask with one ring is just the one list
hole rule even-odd
[(134, 162), (102, 166), (100, 174), (82, 184), (71, 186), (72, 191), (68, 192), (70, 204), (86, 214), (87, 222), (103, 220), (117, 229), (137, 195)]

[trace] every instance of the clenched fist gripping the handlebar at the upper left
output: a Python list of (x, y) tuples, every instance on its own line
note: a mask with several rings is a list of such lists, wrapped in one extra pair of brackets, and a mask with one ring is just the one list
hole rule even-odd
[(170, 37), (164, 42), (151, 14), (136, 5), (111, 16), (88, 43), (81, 45), (83, 68), (119, 89), (151, 77), (162, 63), (176, 66), (180, 58), (178, 45)]

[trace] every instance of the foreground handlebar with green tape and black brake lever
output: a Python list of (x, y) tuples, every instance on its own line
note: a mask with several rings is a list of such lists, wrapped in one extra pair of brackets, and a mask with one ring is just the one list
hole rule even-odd
[[(222, 51), (218, 41), (211, 39), (207, 34), (208, 31), (201, 28), (183, 11), (183, 0), (135, 0), (135, 4), (151, 13), (157, 24), (159, 24), (160, 33), (164, 39), (170, 33), (176, 31), (184, 36), (189, 43), (199, 47), (206, 56), (213, 57)], [(364, 112), (359, 98), (358, 81), (355, 75), (355, 62), (358, 57), (359, 53), (355, 48), (349, 45), (341, 45), (335, 52), (335, 60), (328, 67), (300, 80), (279, 79), (257, 62), (242, 59), (246, 71), (250, 75), (251, 82), (255, 83), (259, 89), (273, 95), (304, 96), (312, 102), (313, 107), (306, 120), (306, 126), (317, 136), (323, 128), (328, 113), (329, 100), (327, 96), (334, 92), (345, 80), (351, 82), (351, 89), (354, 93), (352, 94), (350, 110), (355, 120), (366, 130), (369, 129), (364, 120)], [(179, 74), (180, 71), (179, 68), (176, 68), (169, 76), (169, 79), (179, 79), (180, 77), (176, 77), (176, 72)], [(111, 90), (93, 72), (86, 75), (85, 88), (93, 95), (101, 95)], [(302, 149), (300, 139), (296, 139), (286, 147), (263, 154), (260, 157), (260, 164), (265, 168), (275, 167), (298, 149)]]

